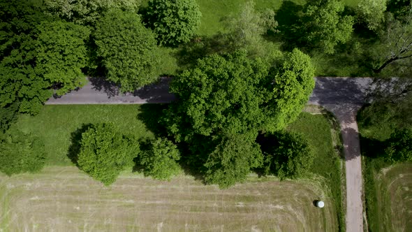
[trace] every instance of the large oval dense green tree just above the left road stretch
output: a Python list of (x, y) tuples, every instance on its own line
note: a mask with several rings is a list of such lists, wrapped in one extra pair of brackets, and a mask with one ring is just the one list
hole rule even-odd
[(156, 41), (137, 14), (110, 10), (97, 22), (93, 36), (106, 78), (121, 85), (123, 92), (133, 92), (158, 77)]

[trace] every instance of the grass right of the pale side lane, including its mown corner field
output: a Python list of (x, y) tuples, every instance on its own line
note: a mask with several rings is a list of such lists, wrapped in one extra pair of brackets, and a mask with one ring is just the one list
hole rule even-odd
[(411, 231), (412, 164), (394, 165), (383, 157), (385, 140), (399, 123), (369, 123), (364, 117), (374, 113), (370, 110), (358, 113), (367, 226), (369, 231)]

